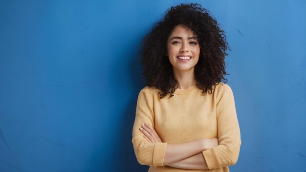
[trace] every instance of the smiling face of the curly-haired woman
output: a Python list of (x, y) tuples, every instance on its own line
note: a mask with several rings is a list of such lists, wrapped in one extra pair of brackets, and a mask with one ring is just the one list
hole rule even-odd
[(168, 38), (167, 49), (173, 70), (194, 71), (200, 54), (200, 46), (193, 31), (182, 24), (175, 26)]

